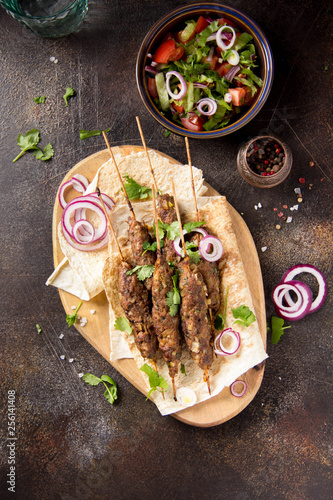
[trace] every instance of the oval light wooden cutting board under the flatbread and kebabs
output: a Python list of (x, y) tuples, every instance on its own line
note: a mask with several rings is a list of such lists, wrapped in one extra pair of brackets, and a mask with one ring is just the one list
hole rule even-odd
[[(112, 148), (113, 153), (120, 153), (123, 156), (131, 152), (142, 151), (140, 146), (120, 146)], [(163, 154), (160, 153), (159, 154)], [(170, 156), (164, 155), (172, 163), (179, 163)], [(107, 149), (88, 156), (77, 165), (75, 165), (64, 177), (63, 182), (71, 179), (74, 174), (82, 174), (89, 182), (91, 182), (98, 170), (109, 159), (109, 152)], [(62, 182), (62, 183), (63, 183)], [(62, 184), (61, 183), (61, 184)], [(211, 186), (208, 186), (207, 196), (218, 195)], [(241, 257), (244, 262), (246, 275), (248, 278), (252, 300), (255, 308), (256, 318), (259, 324), (260, 333), (266, 346), (266, 313), (265, 313), (265, 297), (263, 282), (260, 270), (260, 263), (258, 254), (251, 236), (251, 233), (245, 224), (243, 218), (236, 212), (236, 210), (229, 204), (230, 214), (234, 230), (236, 233)], [(61, 219), (62, 209), (58, 202), (58, 196), (54, 205), (53, 212), (53, 255), (54, 265), (57, 267), (63, 260), (64, 255), (61, 251), (58, 237), (57, 227)], [(70, 293), (59, 291), (60, 298), (66, 314), (72, 314), (72, 306), (78, 304), (77, 297)], [(91, 314), (90, 311), (96, 311)], [(78, 323), (75, 324), (77, 330), (83, 337), (107, 360), (110, 360), (110, 338), (109, 338), (109, 312), (106, 295), (101, 292), (99, 295), (91, 299), (89, 302), (83, 303), (80, 308), (81, 316), (88, 318), (88, 323), (84, 327), (80, 327)], [(110, 361), (109, 361), (110, 362)], [(139, 391), (146, 394), (145, 382), (133, 359), (121, 359), (113, 361), (111, 365), (118, 370), (131, 384), (133, 384)], [(230, 418), (240, 413), (254, 398), (261, 385), (264, 374), (264, 364), (252, 368), (242, 377), (248, 385), (247, 392), (241, 398), (234, 397), (230, 394), (228, 387), (225, 387), (220, 394), (210, 398), (209, 400), (199, 403), (195, 406), (173, 413), (172, 416), (178, 420), (198, 426), (198, 427), (211, 427), (226, 422)], [(147, 404), (149, 404), (147, 402)], [(150, 403), (151, 404), (151, 403)]]

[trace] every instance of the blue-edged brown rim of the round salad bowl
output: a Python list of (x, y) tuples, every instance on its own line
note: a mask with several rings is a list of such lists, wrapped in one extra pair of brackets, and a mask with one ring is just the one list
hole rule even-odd
[[(165, 26), (170, 21), (176, 20), (180, 14), (182, 15), (182, 17), (183, 16), (185, 17), (186, 15), (190, 14), (191, 16), (195, 16), (196, 14), (202, 13), (203, 10), (211, 13), (226, 14), (231, 18), (235, 18), (236, 23), (238, 21), (249, 26), (251, 32), (255, 37), (256, 45), (260, 46), (263, 53), (264, 73), (266, 75), (266, 78), (264, 80), (264, 85), (260, 90), (258, 99), (254, 105), (254, 108), (253, 109), (250, 108), (244, 115), (242, 115), (240, 120), (222, 129), (217, 129), (213, 131), (195, 132), (193, 130), (185, 129), (171, 122), (163, 115), (161, 115), (161, 113), (159, 113), (148, 92), (146, 78), (145, 78), (145, 66), (147, 63), (147, 54), (149, 53), (154, 43), (157, 41), (157, 38), (159, 37), (158, 35), (159, 31), (163, 26)], [(242, 128), (244, 125), (246, 125), (259, 113), (259, 111), (265, 104), (268, 95), (270, 93), (270, 90), (272, 88), (273, 76), (274, 76), (273, 55), (268, 40), (262, 29), (258, 26), (258, 24), (255, 21), (253, 21), (249, 16), (239, 11), (238, 9), (235, 9), (228, 5), (214, 3), (214, 2), (192, 3), (178, 7), (178, 9), (175, 9), (165, 14), (150, 28), (150, 30), (146, 34), (140, 46), (136, 62), (137, 87), (141, 99), (146, 109), (149, 111), (149, 113), (160, 123), (160, 125), (170, 130), (171, 132), (174, 132), (178, 135), (193, 137), (196, 139), (212, 139), (216, 137), (222, 137), (224, 135), (231, 134), (236, 130)]]

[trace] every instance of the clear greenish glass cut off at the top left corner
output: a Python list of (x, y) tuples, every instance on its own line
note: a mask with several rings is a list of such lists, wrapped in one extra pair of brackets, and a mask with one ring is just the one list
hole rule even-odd
[(58, 38), (78, 31), (88, 0), (0, 0), (6, 11), (37, 35)]

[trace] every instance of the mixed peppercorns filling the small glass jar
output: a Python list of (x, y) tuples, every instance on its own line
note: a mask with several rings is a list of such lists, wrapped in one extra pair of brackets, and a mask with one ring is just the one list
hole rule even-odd
[(258, 139), (250, 144), (246, 158), (255, 174), (270, 176), (283, 167), (285, 153), (281, 144), (270, 139)]

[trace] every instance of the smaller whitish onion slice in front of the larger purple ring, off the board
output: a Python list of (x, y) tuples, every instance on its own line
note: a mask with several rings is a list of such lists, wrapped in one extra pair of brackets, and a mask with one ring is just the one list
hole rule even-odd
[[(281, 286), (285, 286), (286, 293), (289, 293), (290, 290), (293, 290), (297, 297), (299, 297), (298, 292), (300, 292), (302, 296), (302, 302), (301, 305), (298, 304), (297, 309), (295, 310), (295, 304), (292, 306), (289, 306), (289, 310), (287, 306), (282, 306), (280, 307), (280, 301), (278, 300), (277, 302), (273, 298), (273, 302), (275, 304), (276, 311), (278, 315), (286, 320), (289, 321), (296, 321), (298, 319), (304, 318), (308, 314), (311, 308), (312, 304), (312, 292), (310, 288), (305, 284), (302, 283), (301, 281), (286, 281), (281, 284)], [(293, 288), (292, 288), (293, 287)], [(281, 293), (279, 295), (281, 297)], [(283, 297), (281, 297), (281, 303), (282, 303)], [(296, 303), (299, 303), (299, 300), (297, 300)]]

